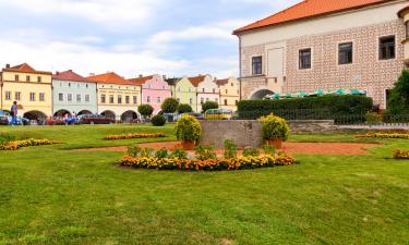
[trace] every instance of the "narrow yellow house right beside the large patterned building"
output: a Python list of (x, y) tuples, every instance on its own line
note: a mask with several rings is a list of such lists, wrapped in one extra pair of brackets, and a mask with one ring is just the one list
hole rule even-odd
[(240, 100), (240, 84), (234, 77), (216, 79), (220, 88), (220, 108), (237, 111), (237, 103)]

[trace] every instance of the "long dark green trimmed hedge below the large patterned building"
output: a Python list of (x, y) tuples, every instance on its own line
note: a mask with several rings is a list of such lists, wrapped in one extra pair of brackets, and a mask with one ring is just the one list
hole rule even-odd
[[(373, 106), (372, 98), (365, 96), (323, 96), (281, 100), (242, 100), (238, 105), (240, 118), (252, 115), (258, 118), (274, 113), (288, 118), (286, 114), (320, 115), (320, 119), (335, 119), (337, 115), (362, 115), (365, 118)], [(294, 117), (296, 117), (294, 115)], [(317, 118), (318, 119), (318, 118)]]

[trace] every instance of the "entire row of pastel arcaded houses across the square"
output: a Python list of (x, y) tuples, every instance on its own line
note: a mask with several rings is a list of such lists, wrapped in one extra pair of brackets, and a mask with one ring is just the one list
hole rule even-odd
[(190, 105), (195, 112), (202, 110), (205, 101), (236, 110), (240, 97), (236, 78), (199, 75), (167, 79), (155, 74), (127, 79), (115, 72), (84, 77), (72, 70), (55, 74), (37, 71), (27, 63), (7, 64), (0, 82), (0, 109), (9, 111), (16, 101), (19, 114), (33, 120), (100, 113), (131, 121), (139, 118), (140, 105), (151, 105), (157, 114), (164, 100), (170, 97)]

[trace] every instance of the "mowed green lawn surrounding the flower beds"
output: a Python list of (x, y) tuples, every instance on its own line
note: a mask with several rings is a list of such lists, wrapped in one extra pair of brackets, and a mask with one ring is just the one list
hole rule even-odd
[[(172, 131), (0, 127), (65, 142), (0, 151), (0, 244), (409, 244), (409, 161), (392, 159), (408, 140), (380, 140), (371, 156), (297, 155), (292, 167), (217, 173), (121, 169), (121, 152), (69, 150), (146, 142), (106, 134), (175, 140)], [(309, 138), (356, 142), (291, 140)]]

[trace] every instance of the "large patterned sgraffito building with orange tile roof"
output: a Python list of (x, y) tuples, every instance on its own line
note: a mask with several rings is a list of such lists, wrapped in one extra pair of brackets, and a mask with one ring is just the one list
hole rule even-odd
[(358, 88), (386, 108), (409, 56), (407, 7), (405, 0), (309, 0), (234, 30), (241, 97)]

